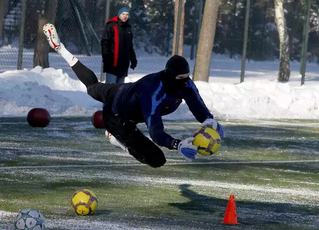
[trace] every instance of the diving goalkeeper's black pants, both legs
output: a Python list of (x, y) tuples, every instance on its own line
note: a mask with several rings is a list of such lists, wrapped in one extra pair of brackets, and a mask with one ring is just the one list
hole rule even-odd
[(133, 122), (123, 121), (111, 111), (112, 102), (117, 90), (123, 84), (99, 82), (96, 75), (78, 61), (72, 66), (79, 80), (85, 84), (88, 94), (95, 100), (105, 103), (103, 123), (105, 128), (125, 147), (139, 162), (158, 168), (165, 164), (166, 159), (161, 149), (147, 138)]

